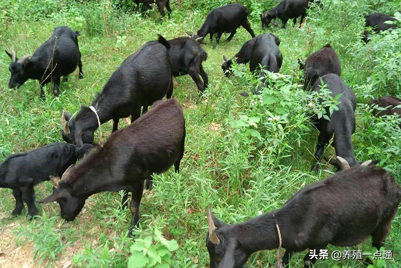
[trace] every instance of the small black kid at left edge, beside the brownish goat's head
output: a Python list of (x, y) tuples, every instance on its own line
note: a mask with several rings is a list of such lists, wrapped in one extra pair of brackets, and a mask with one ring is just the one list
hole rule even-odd
[(91, 148), (90, 144), (76, 146), (56, 142), (7, 157), (0, 164), (0, 187), (13, 189), (13, 195), (16, 198), (13, 214), (21, 214), (25, 201), (29, 214), (34, 216), (38, 212), (35, 205), (34, 186), (49, 180), (50, 176), (60, 176)]

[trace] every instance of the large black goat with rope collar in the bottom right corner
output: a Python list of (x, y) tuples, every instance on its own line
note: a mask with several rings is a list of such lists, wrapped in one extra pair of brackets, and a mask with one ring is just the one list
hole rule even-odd
[[(401, 199), (391, 174), (370, 161), (338, 172), (296, 192), (280, 209), (243, 223), (226, 224), (208, 210), (206, 246), (211, 268), (243, 267), (259, 250), (292, 252), (324, 249), (328, 244), (352, 246), (369, 235), (377, 249), (385, 240)], [(281, 241), (281, 243), (280, 243)], [(304, 268), (316, 257), (307, 253)]]

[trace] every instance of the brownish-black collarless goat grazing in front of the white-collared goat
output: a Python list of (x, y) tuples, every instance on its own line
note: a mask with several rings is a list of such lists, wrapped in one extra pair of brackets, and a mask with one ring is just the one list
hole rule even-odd
[(184, 141), (185, 120), (178, 101), (157, 101), (129, 126), (113, 132), (102, 148), (68, 169), (62, 180), (54, 183), (53, 193), (41, 202), (59, 202), (61, 216), (73, 220), (90, 195), (131, 191), (131, 233), (139, 220), (144, 180), (173, 164), (178, 172)]

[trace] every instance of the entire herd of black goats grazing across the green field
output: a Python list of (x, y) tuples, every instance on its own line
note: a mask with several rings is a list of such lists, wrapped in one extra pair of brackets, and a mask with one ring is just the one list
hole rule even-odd
[[(142, 2), (146, 4), (147, 1)], [(156, 0), (163, 15), (166, 4), (171, 12), (168, 2)], [(301, 16), (302, 23), (309, 4), (309, 0), (283, 0), (261, 15), (262, 27), (267, 27), (271, 20), (276, 25), (277, 18), (283, 21), (283, 28), (289, 18), (294, 18), (295, 24)], [(25, 202), (29, 215), (35, 215), (34, 186), (48, 179), (53, 182), (53, 193), (39, 202), (57, 201), (61, 216), (69, 221), (78, 215), (90, 195), (124, 190), (123, 208), (127, 207), (128, 192), (132, 193), (131, 235), (139, 221), (143, 188), (151, 188), (152, 174), (164, 172), (172, 165), (179, 171), (184, 153), (185, 120), (180, 104), (171, 98), (172, 77), (189, 74), (200, 94), (204, 92), (208, 75), (202, 63), (208, 55), (200, 43), (206, 35), (210, 34), (212, 40), (217, 34), (219, 43), (223, 33), (231, 33), (230, 41), (243, 26), (253, 37), (232, 59), (224, 56), (222, 68), (226, 76), (232, 72), (234, 61), (249, 62), (251, 71), (261, 76), (265, 72), (260, 66), (271, 72), (280, 70), (283, 61), (280, 39), (271, 33), (255, 36), (248, 14), (242, 4), (228, 4), (210, 11), (202, 27), (190, 37), (167, 41), (159, 35), (157, 41), (145, 43), (114, 71), (91, 106), (82, 106), (75, 116), (63, 110), (62, 137), (67, 143), (56, 142), (7, 157), (0, 164), (0, 187), (13, 189), (16, 199), (13, 214), (21, 214)], [(374, 31), (394, 26), (384, 23), (393, 18), (382, 13), (367, 15), (365, 19), (366, 25)], [(57, 96), (61, 76), (67, 80), (67, 75), (77, 66), (79, 78), (83, 78), (78, 36), (79, 32), (59, 26), (33, 55), (18, 58), (14, 50), (6, 50), (12, 60), (9, 87), (19, 87), (28, 79), (37, 79), (44, 98), (44, 84), (53, 82), (53, 92)], [(364, 40), (369, 41), (367, 32)], [(335, 50), (325, 45), (305, 62), (300, 61), (300, 68), (305, 71), (305, 90), (319, 91), (323, 81), (333, 96), (342, 94), (339, 109), (330, 115), (330, 120), (316, 117), (312, 122), (320, 132), (312, 169), (319, 169), (324, 146), (333, 138), (337, 156), (328, 161), (338, 172), (300, 189), (280, 209), (243, 223), (226, 224), (208, 210), (206, 245), (212, 268), (242, 267), (253, 252), (280, 247), (286, 251), (278, 265), (285, 266), (292, 252), (307, 248), (320, 250), (329, 243), (356, 245), (369, 235), (373, 246), (380, 248), (389, 232), (401, 190), (394, 177), (375, 161), (360, 163), (355, 158), (352, 134), (356, 99), (340, 77), (341, 65)], [(259, 94), (265, 86), (271, 86), (263, 78), (262, 85), (250, 93)], [(248, 92), (242, 94), (248, 95)], [(161, 100), (164, 96), (167, 99)], [(377, 116), (401, 114), (397, 107), (400, 101), (384, 96), (371, 104)], [(119, 119), (129, 115), (131, 124), (117, 130)], [(111, 119), (112, 133), (102, 146), (97, 145), (94, 132)], [(101, 134), (99, 138), (102, 139)], [(78, 159), (81, 160), (76, 163)], [(311, 267), (315, 260), (307, 253), (304, 267)]]

